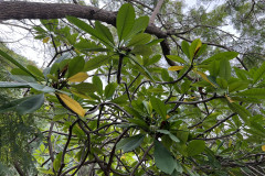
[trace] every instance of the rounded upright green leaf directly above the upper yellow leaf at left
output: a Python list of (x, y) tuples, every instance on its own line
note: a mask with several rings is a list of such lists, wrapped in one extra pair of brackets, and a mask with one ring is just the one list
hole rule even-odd
[(74, 57), (68, 63), (68, 78), (83, 70), (85, 65), (85, 59), (81, 56)]

